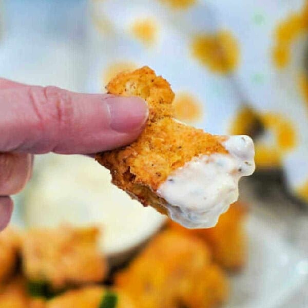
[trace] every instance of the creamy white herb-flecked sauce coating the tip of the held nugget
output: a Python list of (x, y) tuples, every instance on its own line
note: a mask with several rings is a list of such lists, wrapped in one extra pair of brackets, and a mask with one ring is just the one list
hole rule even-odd
[(238, 182), (255, 170), (255, 149), (248, 136), (230, 136), (222, 143), (228, 154), (201, 155), (175, 170), (160, 185), (172, 220), (187, 228), (216, 225), (220, 214), (238, 199)]

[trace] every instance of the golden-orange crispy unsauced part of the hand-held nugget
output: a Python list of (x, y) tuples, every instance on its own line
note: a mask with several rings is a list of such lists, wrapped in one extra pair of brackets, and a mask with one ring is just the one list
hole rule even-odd
[(120, 73), (107, 91), (135, 95), (146, 100), (149, 118), (144, 131), (132, 144), (99, 153), (96, 159), (111, 171), (112, 182), (143, 205), (167, 214), (166, 201), (156, 194), (172, 171), (199, 155), (227, 153), (222, 136), (213, 136), (172, 118), (174, 93), (170, 85), (148, 67)]

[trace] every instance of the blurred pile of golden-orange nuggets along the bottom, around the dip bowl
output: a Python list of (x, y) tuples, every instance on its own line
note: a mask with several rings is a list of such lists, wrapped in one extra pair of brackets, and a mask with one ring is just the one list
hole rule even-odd
[(120, 269), (109, 268), (95, 227), (7, 228), (0, 233), (0, 307), (218, 307), (228, 300), (226, 271), (245, 264), (244, 207), (234, 204), (211, 229), (170, 221)]

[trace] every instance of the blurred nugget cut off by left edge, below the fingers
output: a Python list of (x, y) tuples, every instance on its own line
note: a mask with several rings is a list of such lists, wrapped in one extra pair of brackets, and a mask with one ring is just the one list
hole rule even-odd
[(19, 248), (20, 237), (17, 230), (8, 227), (0, 233), (0, 283), (14, 272)]

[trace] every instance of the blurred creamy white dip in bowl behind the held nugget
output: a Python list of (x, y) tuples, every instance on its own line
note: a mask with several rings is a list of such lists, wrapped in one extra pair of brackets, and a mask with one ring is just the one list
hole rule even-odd
[(53, 154), (37, 158), (41, 161), (36, 160), (34, 177), (25, 192), (26, 226), (98, 226), (101, 251), (113, 261), (164, 224), (165, 216), (141, 206), (111, 184), (110, 171), (94, 159)]

